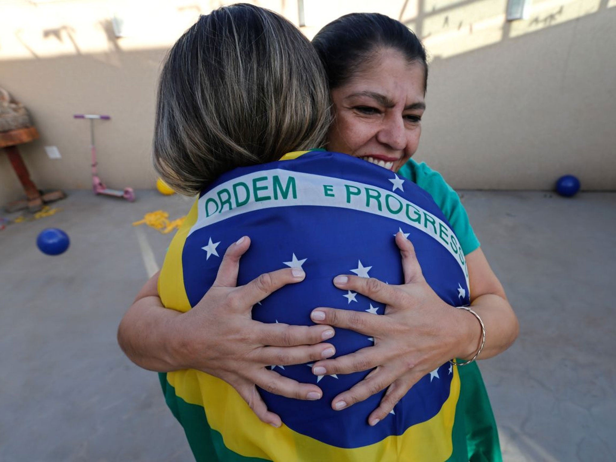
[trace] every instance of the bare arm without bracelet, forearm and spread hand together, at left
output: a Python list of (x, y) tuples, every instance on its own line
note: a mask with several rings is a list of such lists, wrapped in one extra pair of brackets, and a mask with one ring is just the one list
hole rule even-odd
[[(334, 347), (322, 341), (334, 336), (327, 325), (265, 324), (251, 318), (253, 305), (275, 290), (304, 280), (298, 269), (262, 274), (237, 287), (240, 257), (248, 237), (229, 246), (214, 285), (186, 313), (162, 306), (154, 278), (147, 283), (124, 316), (118, 341), (128, 357), (148, 369), (197, 369), (229, 383), (254, 413), (275, 427), (280, 417), (267, 410), (256, 387), (295, 399), (322, 397), (315, 384), (285, 378), (268, 367), (291, 365), (332, 356)], [(156, 275), (158, 278), (158, 275)], [(132, 311), (131, 311), (132, 310)], [(149, 311), (147, 311), (149, 310)]]

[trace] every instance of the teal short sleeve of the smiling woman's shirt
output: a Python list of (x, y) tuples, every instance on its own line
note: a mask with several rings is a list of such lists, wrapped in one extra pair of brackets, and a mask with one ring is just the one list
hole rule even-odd
[(464, 255), (468, 255), (479, 247), (479, 240), (472, 230), (468, 214), (466, 214), (458, 193), (447, 184), (439, 172), (432, 170), (424, 162), (418, 164), (411, 159), (400, 168), (398, 174), (411, 180), (432, 195), (436, 205), (439, 206), (447, 217), (447, 221), (452, 225), (453, 232), (458, 237)]

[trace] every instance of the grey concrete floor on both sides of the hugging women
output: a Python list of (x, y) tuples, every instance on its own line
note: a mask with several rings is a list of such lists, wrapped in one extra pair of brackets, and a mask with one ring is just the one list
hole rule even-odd
[[(116, 344), (147, 278), (131, 223), (181, 197), (72, 192), (62, 211), (0, 231), (0, 461), (190, 461), (158, 378)], [(616, 193), (463, 192), (521, 322), (511, 349), (481, 362), (505, 461), (616, 460)], [(67, 253), (38, 232), (60, 227)], [(160, 265), (171, 235), (141, 230)], [(152, 265), (152, 261), (150, 261)]]

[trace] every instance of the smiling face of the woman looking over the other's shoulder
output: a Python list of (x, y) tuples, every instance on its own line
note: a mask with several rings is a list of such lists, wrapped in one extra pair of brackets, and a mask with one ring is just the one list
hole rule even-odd
[(331, 91), (334, 123), (327, 149), (398, 171), (417, 150), (424, 102), (424, 67), (385, 49)]

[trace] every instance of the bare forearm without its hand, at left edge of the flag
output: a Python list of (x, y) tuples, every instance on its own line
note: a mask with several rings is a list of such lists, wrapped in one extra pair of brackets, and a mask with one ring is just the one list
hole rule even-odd
[(174, 320), (182, 313), (163, 307), (158, 296), (138, 298), (118, 327), (124, 354), (144, 369), (169, 372), (181, 369), (173, 351)]

